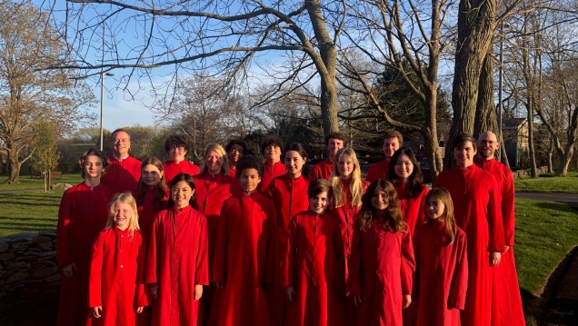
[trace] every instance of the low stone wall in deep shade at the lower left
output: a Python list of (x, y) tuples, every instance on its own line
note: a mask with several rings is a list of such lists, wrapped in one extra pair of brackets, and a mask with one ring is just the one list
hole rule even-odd
[(0, 238), (0, 307), (18, 301), (57, 300), (60, 277), (56, 232), (25, 232)]

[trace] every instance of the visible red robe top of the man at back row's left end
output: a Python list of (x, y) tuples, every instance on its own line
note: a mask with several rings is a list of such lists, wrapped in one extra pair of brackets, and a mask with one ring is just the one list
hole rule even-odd
[(109, 158), (110, 165), (106, 168), (101, 182), (114, 190), (115, 193), (132, 192), (141, 178), (141, 162), (132, 156), (119, 160), (114, 156)]

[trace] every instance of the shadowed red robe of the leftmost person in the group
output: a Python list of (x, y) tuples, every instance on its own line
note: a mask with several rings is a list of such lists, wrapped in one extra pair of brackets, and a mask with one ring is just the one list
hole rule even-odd
[(58, 308), (59, 326), (83, 325), (88, 312), (90, 251), (98, 232), (106, 225), (114, 191), (99, 184), (91, 189), (79, 183), (62, 197), (56, 227), (56, 259), (63, 268), (75, 263), (73, 277), (62, 277)]

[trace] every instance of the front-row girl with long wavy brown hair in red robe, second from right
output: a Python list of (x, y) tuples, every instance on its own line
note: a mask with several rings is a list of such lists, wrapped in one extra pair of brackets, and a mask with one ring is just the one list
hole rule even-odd
[(402, 309), (412, 302), (414, 248), (389, 181), (374, 181), (363, 197), (347, 290), (358, 308), (358, 325), (402, 325)]

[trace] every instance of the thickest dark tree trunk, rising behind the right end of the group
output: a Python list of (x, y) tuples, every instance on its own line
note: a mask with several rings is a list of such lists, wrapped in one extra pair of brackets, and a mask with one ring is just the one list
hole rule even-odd
[(452, 92), (453, 123), (445, 150), (445, 169), (453, 165), (453, 138), (460, 133), (473, 133), (479, 76), (492, 44), (495, 10), (495, 0), (460, 1)]

